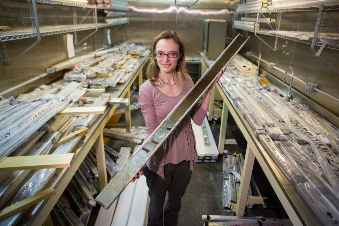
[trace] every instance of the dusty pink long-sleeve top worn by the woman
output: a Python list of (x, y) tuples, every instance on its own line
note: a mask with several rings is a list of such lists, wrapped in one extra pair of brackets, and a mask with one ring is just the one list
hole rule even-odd
[[(146, 122), (147, 135), (145, 140), (192, 87), (193, 81), (189, 75), (187, 75), (186, 80), (184, 80), (181, 93), (176, 97), (165, 95), (149, 81), (144, 82), (140, 86), (138, 106), (141, 108)], [(193, 170), (193, 164), (197, 162), (198, 156), (191, 118), (194, 123), (201, 125), (205, 116), (206, 110), (200, 107), (197, 102), (146, 163), (149, 170), (165, 178), (163, 167), (166, 164), (177, 164), (185, 160), (190, 161), (190, 170)]]

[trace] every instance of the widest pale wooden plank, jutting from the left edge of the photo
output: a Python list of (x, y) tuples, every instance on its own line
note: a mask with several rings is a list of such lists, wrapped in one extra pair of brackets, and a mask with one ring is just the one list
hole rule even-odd
[(0, 163), (0, 171), (70, 167), (73, 155), (74, 153), (7, 157)]

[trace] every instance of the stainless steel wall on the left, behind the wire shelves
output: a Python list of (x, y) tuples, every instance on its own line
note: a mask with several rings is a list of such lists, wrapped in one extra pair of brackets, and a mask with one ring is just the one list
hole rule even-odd
[[(21, 3), (0, 3), (0, 11), (2, 16), (14, 17), (17, 15), (23, 4)], [(75, 7), (78, 22), (87, 13), (87, 9)], [(55, 5), (37, 5), (38, 18), (40, 26), (54, 26), (54, 25), (70, 25), (73, 24), (73, 11), (72, 7), (55, 6)], [(28, 7), (23, 10), (22, 16), (29, 16)], [(98, 22), (103, 21), (103, 12), (98, 15)], [(83, 23), (91, 23), (92, 19), (88, 18)], [(1, 25), (11, 24), (11, 19), (2, 19)], [(29, 19), (19, 19), (13, 30), (27, 28), (31, 26)], [(78, 40), (83, 39), (92, 30), (86, 30), (77, 32)], [(74, 34), (74, 33), (71, 33)], [(98, 32), (94, 36), (87, 38), (84, 42), (79, 45), (74, 45), (76, 56), (83, 55), (88, 52), (92, 52), (95, 49), (100, 48), (102, 45), (108, 45), (106, 38), (105, 28), (99, 28)], [(113, 34), (113, 33), (112, 33)], [(6, 49), (11, 61), (21, 54), (27, 47), (34, 43), (37, 38), (27, 38), (20, 40), (5, 41)], [(75, 38), (74, 38), (75, 40)], [(0, 64), (0, 93), (6, 91), (12, 87), (20, 85), (30, 79), (36, 78), (37, 76), (45, 73), (45, 68), (62, 62), (68, 59), (66, 49), (66, 34), (50, 35), (41, 37), (41, 42), (34, 48), (29, 50), (24, 56), (18, 59), (16, 62), (9, 66), (5, 66), (2, 63), (4, 59), (1, 49), (1, 64)], [(48, 84), (54, 80), (60, 78), (61, 72), (48, 75), (44, 79), (40, 79), (31, 85), (26, 85), (16, 91), (4, 95), (18, 96), (20, 93), (26, 93), (31, 91), (34, 87), (40, 84)]]

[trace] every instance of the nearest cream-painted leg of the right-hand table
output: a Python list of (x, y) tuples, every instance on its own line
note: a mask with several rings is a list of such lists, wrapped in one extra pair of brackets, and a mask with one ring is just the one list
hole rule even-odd
[(240, 190), (237, 200), (237, 208), (236, 208), (236, 215), (243, 216), (245, 211), (245, 205), (248, 195), (248, 188), (251, 182), (253, 164), (254, 164), (254, 153), (251, 148), (252, 141), (248, 140), (247, 148), (246, 148), (246, 155), (244, 161), (244, 167), (242, 170), (241, 182), (240, 182)]

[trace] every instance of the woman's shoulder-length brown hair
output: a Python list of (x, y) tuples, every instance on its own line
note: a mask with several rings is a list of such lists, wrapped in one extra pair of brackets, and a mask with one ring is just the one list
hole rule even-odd
[(180, 59), (178, 60), (178, 64), (180, 63), (180, 65), (177, 64), (175, 70), (177, 72), (180, 72), (181, 76), (186, 79), (186, 74), (187, 74), (187, 69), (186, 69), (186, 62), (185, 62), (185, 46), (184, 46), (184, 42), (182, 40), (182, 38), (180, 37), (180, 35), (173, 31), (173, 30), (165, 30), (164, 32), (160, 33), (153, 42), (153, 47), (152, 47), (152, 60), (151, 62), (149, 62), (148, 66), (147, 66), (147, 79), (152, 83), (152, 85), (154, 86), (159, 86), (159, 82), (157, 82), (157, 79), (159, 77), (159, 72), (160, 72), (160, 68), (157, 64), (156, 61), (156, 56), (154, 54), (155, 51), (155, 46), (157, 45), (158, 41), (160, 39), (173, 39), (173, 41), (175, 43), (177, 43), (179, 45), (179, 54), (181, 54)]

